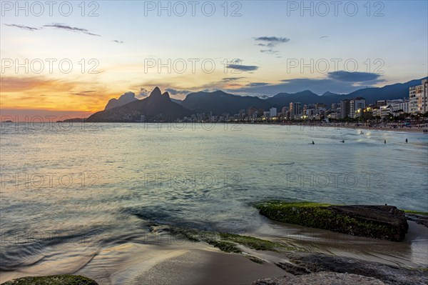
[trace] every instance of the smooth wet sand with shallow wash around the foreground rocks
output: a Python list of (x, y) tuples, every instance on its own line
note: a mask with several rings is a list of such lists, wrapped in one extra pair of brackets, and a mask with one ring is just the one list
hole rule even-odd
[[(409, 222), (402, 242), (367, 239), (332, 231), (266, 221), (245, 235), (282, 241), (301, 251), (333, 254), (413, 268), (428, 267), (428, 228)], [(29, 268), (1, 272), (0, 283), (23, 276), (78, 274), (109, 284), (251, 284), (257, 279), (289, 275), (275, 263), (288, 260), (287, 253), (255, 251), (241, 246), (246, 254), (228, 254), (201, 242), (173, 244), (128, 242), (101, 249), (93, 255), (76, 253), (69, 259), (52, 259)], [(72, 251), (73, 249), (69, 249)], [(249, 259), (265, 261), (258, 264)]]

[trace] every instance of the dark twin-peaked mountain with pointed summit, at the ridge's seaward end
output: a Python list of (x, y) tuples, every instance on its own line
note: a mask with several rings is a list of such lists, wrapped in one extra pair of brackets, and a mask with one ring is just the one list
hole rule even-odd
[(99, 111), (86, 121), (131, 122), (140, 121), (141, 116), (145, 116), (145, 121), (173, 121), (190, 114), (193, 112), (171, 101), (168, 92), (162, 94), (161, 89), (156, 87), (145, 99)]

